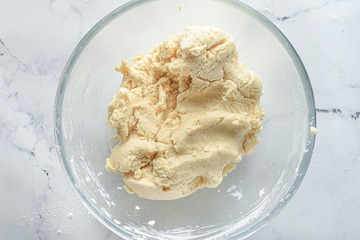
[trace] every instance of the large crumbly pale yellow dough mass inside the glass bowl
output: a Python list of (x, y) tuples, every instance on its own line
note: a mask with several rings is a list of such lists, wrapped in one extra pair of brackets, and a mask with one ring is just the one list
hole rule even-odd
[(120, 143), (105, 168), (143, 198), (216, 187), (260, 142), (262, 82), (238, 62), (233, 37), (216, 27), (185, 30), (116, 66), (124, 76), (108, 120)]

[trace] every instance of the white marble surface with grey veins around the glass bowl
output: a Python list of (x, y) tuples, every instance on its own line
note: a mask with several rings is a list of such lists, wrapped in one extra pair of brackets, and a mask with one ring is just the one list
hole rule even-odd
[[(0, 239), (120, 239), (68, 184), (54, 148), (53, 108), (75, 46), (125, 2), (0, 0)], [(359, 239), (360, 2), (244, 3), (300, 55), (319, 130), (297, 193), (248, 239)]]

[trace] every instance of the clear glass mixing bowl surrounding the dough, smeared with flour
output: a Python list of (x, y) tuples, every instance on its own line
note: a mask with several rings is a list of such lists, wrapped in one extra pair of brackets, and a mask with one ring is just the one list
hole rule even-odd
[[(201, 24), (233, 36), (239, 61), (262, 79), (266, 118), (261, 143), (215, 189), (171, 201), (129, 195), (117, 188), (123, 186), (122, 176), (104, 168), (117, 144), (109, 139), (115, 131), (104, 124), (122, 79), (114, 67), (122, 58), (152, 50), (185, 26)], [(294, 195), (310, 162), (315, 141), (310, 126), (316, 126), (316, 116), (309, 77), (298, 54), (254, 9), (235, 0), (135, 0), (103, 18), (77, 45), (59, 82), (54, 125), (69, 183), (112, 231), (127, 240), (224, 240), (251, 235)], [(263, 187), (265, 194), (259, 197)], [(151, 220), (154, 226), (148, 225)]]

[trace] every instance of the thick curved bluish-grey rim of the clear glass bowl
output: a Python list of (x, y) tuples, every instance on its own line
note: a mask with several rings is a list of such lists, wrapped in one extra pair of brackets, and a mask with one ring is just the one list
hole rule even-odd
[[(98, 219), (101, 223), (103, 223), (103, 225), (105, 225), (115, 234), (127, 240), (132, 240), (133, 234), (130, 233), (129, 231), (120, 229), (118, 225), (114, 224), (114, 222), (111, 219), (105, 216), (105, 214), (100, 209), (98, 209), (96, 205), (94, 205), (94, 203), (84, 194), (84, 192), (80, 190), (80, 187), (77, 186), (75, 179), (69, 177), (72, 175), (72, 170), (69, 167), (69, 164), (66, 163), (68, 159), (66, 158), (66, 154), (62, 149), (63, 146), (62, 104), (64, 99), (64, 91), (66, 90), (68, 80), (71, 79), (73, 67), (75, 66), (75, 63), (77, 62), (82, 51), (84, 51), (84, 49), (86, 48), (88, 42), (90, 42), (98, 32), (100, 32), (104, 27), (106, 27), (110, 22), (112, 22), (114, 18), (117, 18), (129, 12), (132, 9), (138, 8), (139, 6), (156, 1), (163, 1), (163, 0), (132, 0), (126, 4), (123, 4), (117, 9), (113, 10), (111, 13), (107, 14), (104, 18), (102, 18), (98, 23), (96, 23), (95, 26), (92, 27), (91, 30), (87, 32), (86, 35), (81, 39), (79, 44), (75, 47), (75, 50), (72, 52), (69, 60), (67, 61), (62, 76), (60, 77), (59, 80), (59, 85), (57, 88), (55, 103), (54, 103), (55, 144), (59, 146), (57, 148), (57, 154), (69, 184), (77, 194), (78, 198), (80, 198), (84, 206), (89, 210), (89, 212), (91, 212), (95, 216), (96, 219)], [(307, 93), (305, 94), (305, 99), (307, 104), (308, 120), (309, 122), (313, 121), (311, 125), (316, 127), (315, 99), (310, 83), (310, 78), (306, 72), (303, 62), (300, 59), (300, 56), (297, 54), (296, 50), (294, 49), (290, 41), (287, 39), (287, 37), (285, 37), (285, 35), (279, 30), (279, 28), (276, 27), (275, 24), (272, 23), (269, 19), (267, 19), (264, 15), (262, 15), (261, 13), (257, 12), (255, 9), (251, 8), (250, 6), (238, 0), (210, 0), (210, 1), (215, 1), (218, 3), (228, 5), (249, 15), (249, 17), (253, 18), (255, 21), (257, 21), (262, 26), (264, 26), (280, 42), (280, 44), (282, 44), (288, 55), (291, 57), (294, 67), (296, 68), (300, 76), (300, 80), (304, 88), (304, 92)], [(310, 129), (310, 125), (308, 127)], [(287, 190), (287, 192), (283, 197), (283, 201), (278, 202), (275, 205), (275, 207), (271, 210), (271, 214), (268, 214), (263, 219), (253, 223), (250, 227), (245, 228), (239, 234), (230, 236), (228, 238), (229, 240), (244, 239), (252, 235), (256, 231), (258, 231), (260, 228), (264, 227), (266, 223), (270, 222), (277, 214), (279, 214), (279, 212), (285, 207), (285, 205), (293, 197), (293, 195), (295, 194), (296, 190), (300, 186), (305, 176), (306, 170), (310, 163), (312, 151), (314, 149), (315, 135), (311, 136), (310, 131), (308, 131), (307, 140), (311, 140), (311, 142), (308, 145), (309, 151), (303, 154), (303, 157), (302, 159), (300, 159), (300, 163), (298, 166), (299, 172), (301, 171), (301, 174), (297, 174), (294, 177), (293, 182), (291, 183), (289, 189)]]

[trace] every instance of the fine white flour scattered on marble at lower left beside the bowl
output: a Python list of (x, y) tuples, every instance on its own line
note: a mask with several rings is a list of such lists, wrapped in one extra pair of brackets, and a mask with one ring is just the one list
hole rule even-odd
[(81, 236), (81, 239), (94, 239), (94, 229), (100, 229), (103, 225), (93, 215), (87, 214), (87, 211), (79, 199), (75, 198), (38, 208), (29, 215), (15, 216), (7, 225), (13, 226), (12, 239), (56, 240), (77, 239), (77, 236)]

